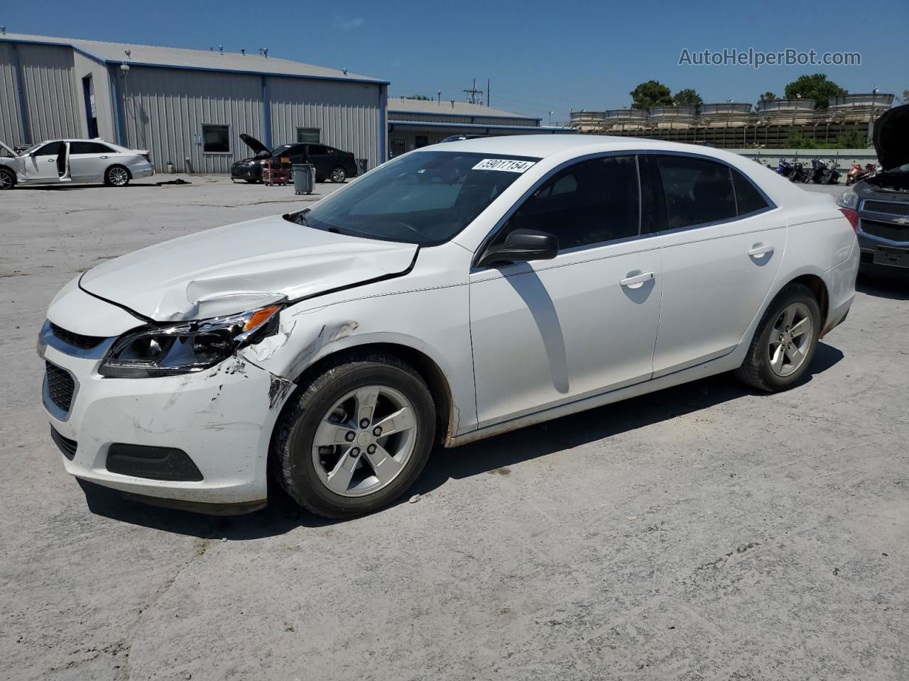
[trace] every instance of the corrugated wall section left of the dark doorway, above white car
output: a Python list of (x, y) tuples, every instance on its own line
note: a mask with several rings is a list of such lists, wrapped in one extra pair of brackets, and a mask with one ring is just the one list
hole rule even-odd
[(18, 44), (30, 142), (81, 133), (75, 107), (73, 51), (56, 45)]

